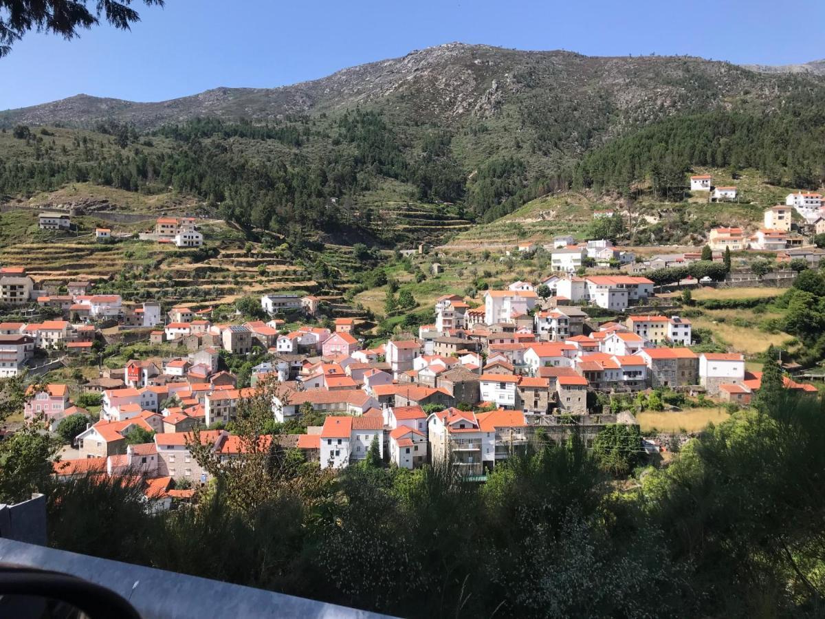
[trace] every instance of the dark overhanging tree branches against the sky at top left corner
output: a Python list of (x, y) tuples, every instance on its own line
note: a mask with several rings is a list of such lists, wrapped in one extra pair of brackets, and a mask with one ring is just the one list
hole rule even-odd
[[(164, 0), (143, 0), (146, 6), (163, 7)], [(115, 28), (130, 30), (131, 24), (140, 21), (140, 16), (130, 8), (132, 0), (102, 0), (95, 2), (90, 10), (87, 0), (63, 2), (63, 0), (0, 0), (0, 58), (12, 51), (12, 45), (23, 35), (34, 30), (52, 35), (60, 35), (71, 40), (84, 28), (100, 24), (103, 17)]]

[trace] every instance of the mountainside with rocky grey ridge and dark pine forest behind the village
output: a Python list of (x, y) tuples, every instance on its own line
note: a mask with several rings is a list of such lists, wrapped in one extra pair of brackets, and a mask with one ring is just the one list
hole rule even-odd
[(295, 243), (437, 241), (571, 187), (676, 199), (696, 166), (818, 187), (823, 100), (815, 73), (443, 45), (293, 87), (2, 112), (0, 193), (172, 188)]

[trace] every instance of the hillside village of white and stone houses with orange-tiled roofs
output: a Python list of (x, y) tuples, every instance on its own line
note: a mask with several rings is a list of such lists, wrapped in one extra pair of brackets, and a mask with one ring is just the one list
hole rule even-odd
[[(691, 177), (691, 187), (712, 186), (709, 177)], [(733, 193), (714, 200), (735, 198), (735, 188), (722, 189)], [(823, 250), (806, 236), (822, 234), (822, 209), (822, 196), (793, 193), (786, 205), (765, 210), (764, 226), (750, 237), (741, 228), (714, 228), (701, 252), (645, 260), (606, 239), (558, 236), (544, 248), (552, 272), (540, 281), (479, 291), (480, 303), (441, 295), (431, 324), (397, 328), (381, 342), (365, 333), (371, 324), (361, 319), (324, 318), (315, 295), (271, 292), (260, 297), (266, 319), (213, 322), (208, 304), (128, 301), (96, 293), (92, 281), (49, 281), (39, 289), (25, 268), (0, 267), (0, 304), (50, 316), (0, 324), (0, 377), (48, 370), (66, 359), (97, 365), (98, 376), (80, 385), (79, 403), (65, 384), (30, 388), (24, 418), (58, 432), (64, 420), (82, 416), (87, 423), (54, 464), (55, 475), (137, 470), (153, 508), (191, 499), (194, 489), (209, 483), (210, 474), (191, 454), (194, 428), (221, 459), (243, 451), (233, 435), (236, 411), (262, 392), (274, 427), (300, 429), (279, 433), (277, 442), (322, 469), (342, 469), (377, 450), (387, 465), (413, 469), (450, 461), (467, 479), (483, 480), (536, 437), (561, 444), (576, 432), (592, 447), (608, 426), (638, 429), (623, 397), (681, 394), (728, 409), (747, 407), (761, 372), (749, 370), (741, 352), (691, 350), (691, 319), (672, 296), (658, 298), (645, 272), (723, 262), (726, 253), (748, 248), (775, 253), (778, 264), (802, 258), (818, 267)], [(804, 223), (792, 226), (794, 213)], [(593, 217), (613, 215), (596, 211)], [(42, 229), (70, 226), (67, 215), (40, 215)], [(95, 236), (98, 243), (114, 242), (111, 229), (99, 228)], [(139, 236), (184, 248), (204, 242), (189, 217), (160, 217), (153, 231)], [(519, 243), (512, 253), (536, 250), (536, 243)], [(675, 285), (709, 281), (688, 276)], [(663, 291), (672, 286), (659, 286)], [(669, 311), (659, 311), (662, 301)], [(39, 309), (31, 309), (35, 305)], [(600, 321), (600, 309), (622, 319)], [(129, 333), (131, 342), (172, 354), (103, 366), (104, 332)], [(227, 360), (252, 357), (257, 364), (239, 381)], [(785, 386), (818, 394), (815, 386), (787, 377)], [(93, 410), (83, 407), (88, 402), (95, 402)], [(310, 415), (317, 425), (295, 423)], [(648, 454), (669, 448), (661, 433), (639, 445)]]

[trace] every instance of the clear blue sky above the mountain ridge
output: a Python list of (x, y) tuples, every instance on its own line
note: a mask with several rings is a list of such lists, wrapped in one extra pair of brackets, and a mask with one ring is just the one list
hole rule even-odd
[(450, 41), (742, 64), (825, 56), (823, 0), (167, 0), (163, 9), (137, 8), (142, 21), (131, 32), (105, 25), (71, 41), (27, 35), (0, 59), (0, 110), (80, 92), (161, 101), (217, 86), (281, 86)]

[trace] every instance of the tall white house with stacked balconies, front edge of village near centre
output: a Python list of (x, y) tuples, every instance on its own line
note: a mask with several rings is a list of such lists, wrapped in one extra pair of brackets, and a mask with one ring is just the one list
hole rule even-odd
[(482, 437), (479, 420), (471, 411), (445, 409), (427, 418), (431, 461), (449, 461), (460, 475), (482, 475)]

